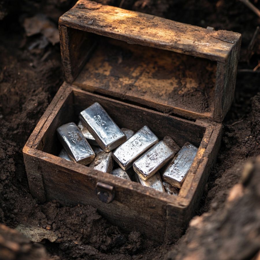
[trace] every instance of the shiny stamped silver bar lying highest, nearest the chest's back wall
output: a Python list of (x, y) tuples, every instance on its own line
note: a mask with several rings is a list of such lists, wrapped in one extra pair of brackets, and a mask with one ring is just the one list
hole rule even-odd
[(126, 141), (125, 134), (97, 102), (81, 111), (79, 118), (105, 152), (112, 151)]

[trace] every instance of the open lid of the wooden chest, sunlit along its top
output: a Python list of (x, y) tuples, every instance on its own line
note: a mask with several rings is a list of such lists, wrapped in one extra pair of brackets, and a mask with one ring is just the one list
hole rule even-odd
[(59, 20), (65, 80), (159, 111), (221, 122), (241, 34), (80, 0)]

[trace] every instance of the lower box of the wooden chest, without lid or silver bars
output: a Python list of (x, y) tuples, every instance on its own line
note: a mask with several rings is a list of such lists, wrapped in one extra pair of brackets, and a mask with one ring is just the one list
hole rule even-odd
[[(183, 195), (170, 196), (53, 155), (59, 152), (54, 137), (57, 126), (72, 118), (77, 121), (76, 115), (93, 102), (99, 102), (120, 127), (137, 131), (146, 122), (160, 139), (170, 135), (179, 145), (188, 140), (200, 146), (188, 181), (183, 183)], [(68, 110), (70, 112), (66, 114)], [(219, 128), (220, 124), (188, 121), (64, 83), (23, 149), (29, 187), (32, 195), (41, 202), (57, 199), (64, 205), (90, 204), (123, 229), (136, 229), (152, 239), (167, 238), (170, 242), (181, 236), (196, 206), (192, 201), (199, 200), (200, 193), (196, 191), (203, 190), (200, 179), (204, 174), (207, 177), (207, 162), (216, 157), (216, 140), (212, 136), (214, 131), (215, 138), (218, 136)], [(96, 196), (98, 181), (115, 187), (116, 196), (112, 203), (102, 203)]]

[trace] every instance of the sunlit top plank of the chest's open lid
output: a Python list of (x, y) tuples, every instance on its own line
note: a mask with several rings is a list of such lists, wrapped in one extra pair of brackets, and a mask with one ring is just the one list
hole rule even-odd
[(185, 53), (225, 62), (240, 34), (212, 31), (157, 16), (80, 0), (59, 20), (60, 25), (131, 44)]

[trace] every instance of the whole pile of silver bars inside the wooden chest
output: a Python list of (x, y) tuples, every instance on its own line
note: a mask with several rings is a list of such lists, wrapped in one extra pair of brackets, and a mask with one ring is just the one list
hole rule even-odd
[(147, 126), (136, 133), (120, 129), (97, 102), (79, 118), (78, 126), (71, 122), (57, 128), (64, 147), (59, 157), (178, 195), (197, 147), (187, 142), (180, 149), (169, 136), (159, 141)]

